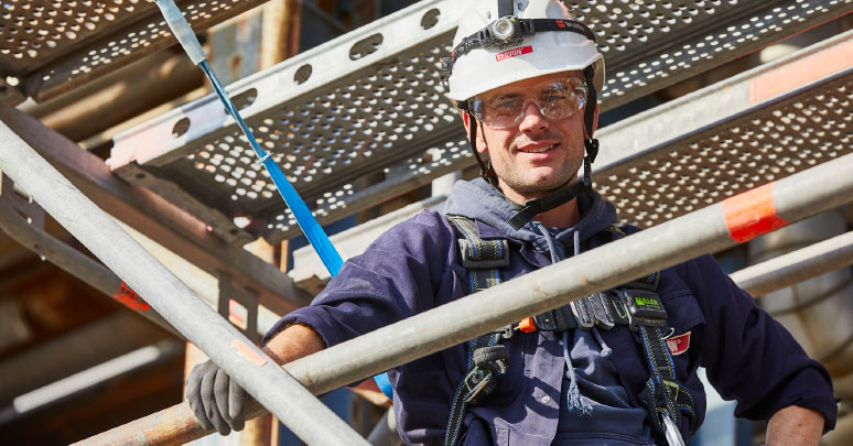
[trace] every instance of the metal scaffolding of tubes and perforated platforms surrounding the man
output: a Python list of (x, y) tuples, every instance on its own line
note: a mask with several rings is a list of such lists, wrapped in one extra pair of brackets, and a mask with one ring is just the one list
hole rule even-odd
[[(20, 29), (30, 19), (60, 45), (9, 43), (19, 50), (0, 53), (0, 68), (17, 83), (0, 79), (6, 104), (54, 97), (172, 43), (165, 23), (148, 2), (125, 6), (121, 14), (111, 7), (75, 6), (85, 9), (78, 15), (89, 18), (91, 26), (74, 39), (53, 39), (61, 33), (54, 29), (60, 25), (40, 15), (52, 8), (48, 3), (41, 10), (18, 7), (0, 13), (0, 26)], [(196, 31), (260, 3), (179, 2)], [(651, 2), (637, 3), (634, 13), (596, 1), (565, 3), (592, 25), (607, 58), (603, 111), (853, 11), (851, 0)], [(458, 118), (444, 100), (436, 68), (450, 51), (461, 4), (423, 0), (227, 87), (261, 145), (309, 198), (321, 222), (475, 165)], [(114, 19), (107, 18), (110, 13)], [(282, 210), (274, 186), (253, 164), (250, 148), (216, 97), (204, 97), (116, 137), (106, 164), (32, 118), (0, 106), (0, 228), (101, 293), (123, 296), (119, 301), (130, 309), (176, 329), (202, 348), (259, 401), (252, 416), (270, 411), (310, 444), (363, 444), (311, 394), (626, 279), (744, 242), (760, 230), (752, 220), (733, 222), (733, 215), (749, 214), (755, 199), (774, 205), (775, 214), (765, 218), (787, 224), (853, 202), (853, 177), (846, 174), (853, 172), (851, 42), (853, 31), (600, 131), (596, 189), (617, 206), (623, 219), (648, 229), (296, 360), (283, 370), (253, 345), (264, 331), (258, 314), (272, 317), (305, 305), (327, 276), (317, 273), (318, 259), (307, 251), (295, 254), (296, 269), (288, 276), (241, 248), (258, 237), (270, 242), (291, 239), (299, 228), (290, 210)], [(378, 182), (363, 181), (377, 176)], [(15, 187), (37, 205), (22, 202)], [(352, 257), (382, 228), (425, 207), (441, 208), (442, 198), (412, 205), (332, 240), (346, 240), (336, 244), (345, 258)], [(42, 208), (102, 264), (47, 236), (37, 225)], [(219, 295), (199, 300), (109, 215), (215, 274)], [(238, 226), (237, 216), (250, 224)], [(685, 227), (690, 240), (671, 237)], [(737, 237), (738, 231), (748, 237)], [(743, 270), (733, 279), (751, 293), (764, 294), (850, 265), (852, 247), (846, 233)], [(210, 311), (210, 304), (218, 305), (219, 315), (227, 316), (223, 302), (236, 294), (249, 308), (250, 324), (241, 333)], [(194, 317), (182, 317), (188, 314)], [(176, 444), (206, 434), (183, 403), (85, 443)]]

